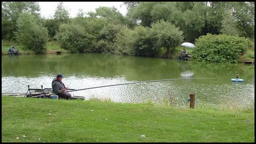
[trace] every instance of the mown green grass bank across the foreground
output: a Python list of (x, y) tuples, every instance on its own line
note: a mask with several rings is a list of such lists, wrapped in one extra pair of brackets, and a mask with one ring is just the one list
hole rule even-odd
[(254, 110), (2, 96), (2, 142), (254, 142)]

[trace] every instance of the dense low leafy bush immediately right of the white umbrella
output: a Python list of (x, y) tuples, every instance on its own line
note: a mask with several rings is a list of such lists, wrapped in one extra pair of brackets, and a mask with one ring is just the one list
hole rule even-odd
[(193, 59), (203, 62), (238, 63), (249, 46), (249, 40), (224, 34), (200, 36), (196, 39)]

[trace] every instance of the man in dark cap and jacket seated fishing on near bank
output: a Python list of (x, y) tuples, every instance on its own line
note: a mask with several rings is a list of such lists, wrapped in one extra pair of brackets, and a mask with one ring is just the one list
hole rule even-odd
[(64, 76), (62, 74), (58, 74), (57, 77), (53, 79), (53, 93), (56, 93), (61, 98), (71, 99), (71, 94), (67, 92), (68, 87), (66, 87), (65, 84), (63, 84), (62, 82), (63, 77)]

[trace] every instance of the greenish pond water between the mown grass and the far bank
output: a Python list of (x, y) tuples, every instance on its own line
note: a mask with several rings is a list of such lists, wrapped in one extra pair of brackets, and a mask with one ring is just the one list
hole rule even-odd
[[(58, 73), (71, 89), (140, 81), (181, 78), (70, 92), (86, 99), (121, 103), (156, 103), (188, 108), (195, 93), (195, 107), (254, 108), (254, 65), (207, 63), (96, 53), (2, 56), (2, 93), (26, 93), (30, 88), (51, 88)], [(236, 75), (243, 83), (232, 83)]]

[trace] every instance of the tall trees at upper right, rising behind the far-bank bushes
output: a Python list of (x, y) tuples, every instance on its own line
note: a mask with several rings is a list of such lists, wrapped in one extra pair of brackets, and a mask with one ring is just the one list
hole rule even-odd
[(140, 2), (128, 16), (147, 27), (163, 19), (180, 27), (186, 41), (194, 42), (207, 33), (221, 34), (229, 12), (235, 22), (229, 33), (254, 38), (254, 2)]

